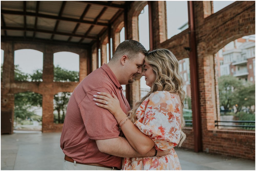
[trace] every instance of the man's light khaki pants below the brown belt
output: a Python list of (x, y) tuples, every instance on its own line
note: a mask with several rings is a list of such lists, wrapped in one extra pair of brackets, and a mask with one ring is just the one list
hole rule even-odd
[(86, 165), (86, 164), (77, 164), (77, 163), (72, 163), (64, 160), (63, 163), (63, 170), (118, 170), (118, 169), (113, 169), (108, 168), (108, 167), (101, 167), (101, 166), (92, 166), (92, 165)]

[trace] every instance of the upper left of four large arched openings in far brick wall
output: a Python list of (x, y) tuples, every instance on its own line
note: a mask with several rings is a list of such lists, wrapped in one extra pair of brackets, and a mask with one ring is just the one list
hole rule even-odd
[(43, 81), (43, 53), (33, 49), (14, 51), (14, 79), (16, 81)]

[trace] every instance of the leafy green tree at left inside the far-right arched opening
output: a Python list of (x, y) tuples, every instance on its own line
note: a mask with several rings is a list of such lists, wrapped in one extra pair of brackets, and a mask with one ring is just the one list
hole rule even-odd
[(220, 106), (229, 110), (236, 103), (234, 91), (243, 83), (232, 75), (223, 75), (218, 78)]

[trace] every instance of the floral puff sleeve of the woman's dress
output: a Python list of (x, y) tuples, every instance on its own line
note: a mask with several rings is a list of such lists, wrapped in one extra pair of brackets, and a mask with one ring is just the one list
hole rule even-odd
[(157, 91), (146, 98), (136, 112), (134, 123), (155, 142), (158, 151), (169, 151), (180, 141), (180, 106), (167, 91)]

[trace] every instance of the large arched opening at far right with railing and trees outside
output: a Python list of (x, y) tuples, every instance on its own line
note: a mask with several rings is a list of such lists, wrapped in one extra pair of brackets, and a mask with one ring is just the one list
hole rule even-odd
[[(215, 78), (219, 129), (255, 130), (237, 127), (234, 120), (255, 121), (255, 35), (238, 38), (215, 55)], [(218, 87), (218, 88), (217, 88)], [(231, 121), (231, 122), (221, 122)], [(239, 125), (255, 125), (239, 123)], [(235, 127), (236, 126), (236, 127)]]

